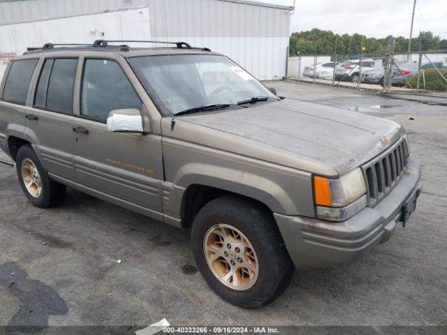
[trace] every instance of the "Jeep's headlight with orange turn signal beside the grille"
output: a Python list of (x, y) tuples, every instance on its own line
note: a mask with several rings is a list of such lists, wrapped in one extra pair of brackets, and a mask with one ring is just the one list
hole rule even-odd
[(367, 207), (365, 178), (360, 168), (337, 179), (314, 177), (316, 216), (344, 221)]

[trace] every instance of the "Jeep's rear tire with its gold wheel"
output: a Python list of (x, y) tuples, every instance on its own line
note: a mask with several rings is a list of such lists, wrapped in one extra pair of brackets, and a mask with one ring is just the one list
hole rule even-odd
[(20, 147), (15, 163), (20, 186), (31, 204), (47, 208), (64, 200), (66, 186), (50, 179), (30, 145)]

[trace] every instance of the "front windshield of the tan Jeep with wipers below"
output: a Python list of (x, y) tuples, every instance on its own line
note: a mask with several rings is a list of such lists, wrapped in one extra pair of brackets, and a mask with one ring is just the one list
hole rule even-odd
[(149, 94), (170, 115), (205, 105), (237, 105), (259, 96), (279, 99), (223, 56), (181, 54), (133, 57), (129, 61)]

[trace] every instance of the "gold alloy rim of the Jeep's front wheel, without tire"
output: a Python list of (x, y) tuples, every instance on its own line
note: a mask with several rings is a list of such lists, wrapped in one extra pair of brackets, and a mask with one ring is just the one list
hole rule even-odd
[(231, 225), (213, 225), (205, 234), (203, 252), (214, 276), (228, 288), (248, 290), (258, 280), (256, 252), (249, 239)]

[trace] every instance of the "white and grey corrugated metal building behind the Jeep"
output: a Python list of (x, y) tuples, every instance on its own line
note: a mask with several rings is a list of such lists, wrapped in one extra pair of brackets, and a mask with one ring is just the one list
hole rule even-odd
[(0, 75), (27, 47), (132, 39), (209, 47), (259, 79), (281, 79), (291, 10), (246, 0), (0, 0)]

